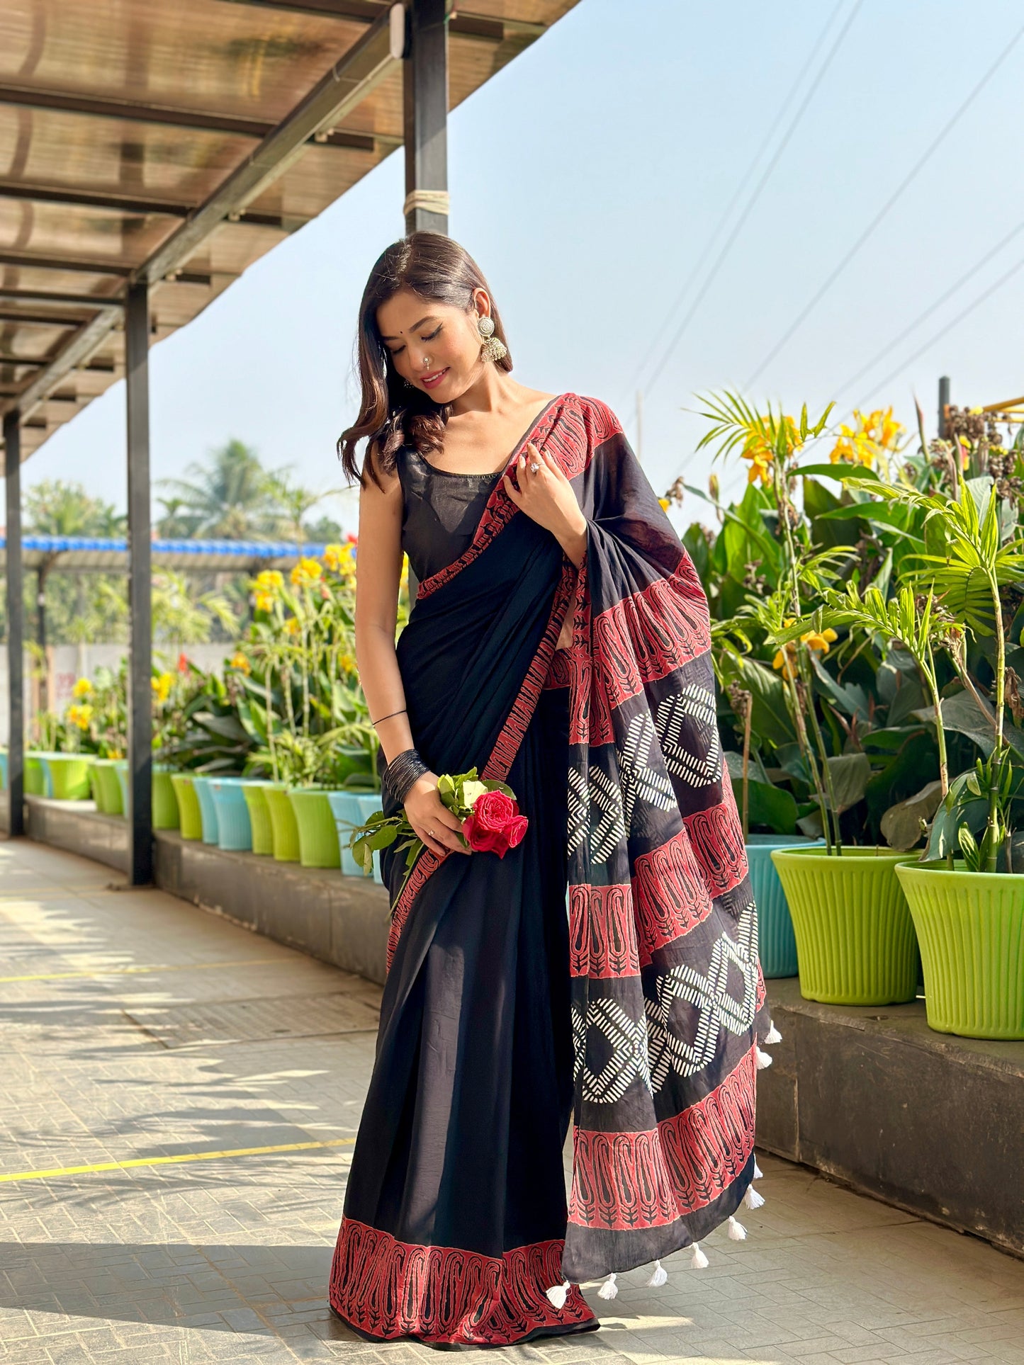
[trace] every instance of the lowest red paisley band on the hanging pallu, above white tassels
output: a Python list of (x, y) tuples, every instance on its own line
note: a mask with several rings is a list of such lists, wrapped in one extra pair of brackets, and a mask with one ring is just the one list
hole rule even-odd
[(754, 1151), (756, 1048), (696, 1104), (640, 1133), (573, 1130), (569, 1223), (665, 1227), (720, 1198)]

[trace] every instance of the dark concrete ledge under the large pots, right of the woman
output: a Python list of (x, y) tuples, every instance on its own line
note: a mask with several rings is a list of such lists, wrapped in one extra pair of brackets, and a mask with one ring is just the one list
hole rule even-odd
[[(924, 1002), (815, 1005), (767, 983), (782, 1041), (758, 1144), (1024, 1254), (1024, 1043), (934, 1033)], [(827, 1231), (827, 1228), (822, 1228)]]

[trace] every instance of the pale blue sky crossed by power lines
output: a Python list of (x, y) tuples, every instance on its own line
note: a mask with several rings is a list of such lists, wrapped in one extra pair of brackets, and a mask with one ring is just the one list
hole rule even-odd
[[(739, 385), (786, 408), (892, 403), (907, 423), (915, 392), (934, 423), (939, 374), (957, 403), (1024, 393), (1024, 228), (1010, 238), (1024, 224), (1024, 37), (901, 190), (1021, 23), (1013, 0), (580, 0), (449, 123), (449, 231), (489, 276), (516, 375), (602, 397), (631, 435), (643, 390), (658, 491), (680, 472), (706, 483), (703, 427), (687, 411), (698, 392)], [(341, 485), (333, 446), (354, 414), (356, 307), (401, 233), (401, 199), (397, 153), (154, 348), (154, 479), (238, 437), (313, 487)], [(123, 385), (25, 470), (26, 483), (53, 476), (124, 505)], [(743, 478), (728, 467), (724, 487)], [(354, 527), (352, 495), (333, 513)], [(683, 519), (700, 515), (689, 500)]]

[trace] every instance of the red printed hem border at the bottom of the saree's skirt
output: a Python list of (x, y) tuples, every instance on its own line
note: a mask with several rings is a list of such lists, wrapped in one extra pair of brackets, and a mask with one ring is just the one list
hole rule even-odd
[(539, 1331), (594, 1321), (579, 1289), (556, 1309), (545, 1289), (561, 1280), (564, 1242), (482, 1256), (416, 1246), (345, 1218), (330, 1268), (330, 1306), (367, 1336), (464, 1346), (511, 1346)]

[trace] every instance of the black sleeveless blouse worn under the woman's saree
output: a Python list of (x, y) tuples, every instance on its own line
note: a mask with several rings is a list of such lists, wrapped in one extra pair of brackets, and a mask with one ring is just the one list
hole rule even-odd
[(483, 508), (507, 465), (493, 474), (451, 474), (403, 445), (396, 457), (401, 483), (401, 549), (423, 583), (468, 550)]

